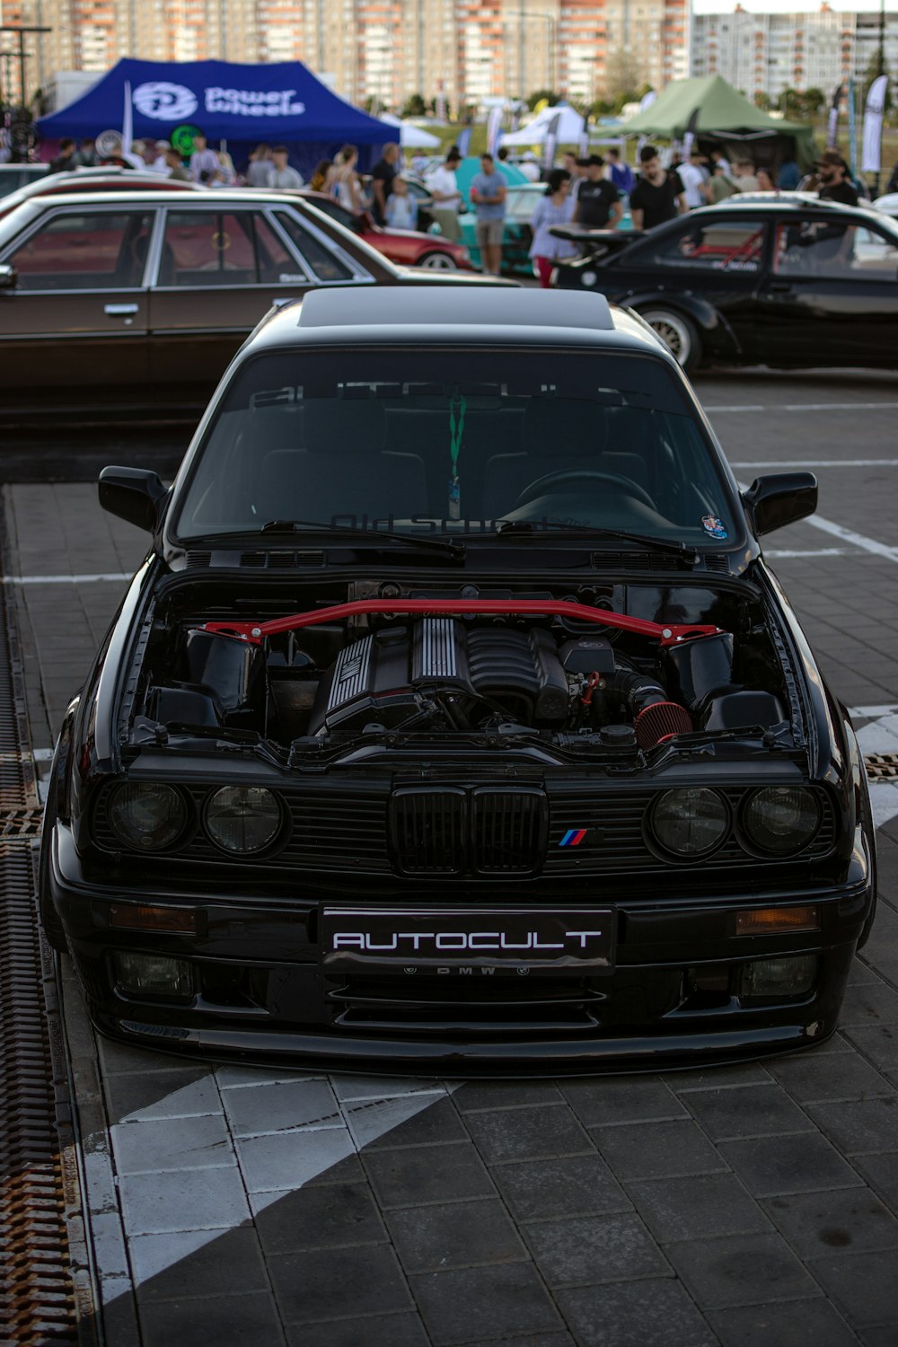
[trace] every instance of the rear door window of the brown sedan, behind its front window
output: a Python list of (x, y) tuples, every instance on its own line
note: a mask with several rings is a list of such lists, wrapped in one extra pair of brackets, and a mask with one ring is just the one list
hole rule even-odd
[(160, 286), (258, 286), (295, 271), (271, 225), (253, 210), (171, 210)]

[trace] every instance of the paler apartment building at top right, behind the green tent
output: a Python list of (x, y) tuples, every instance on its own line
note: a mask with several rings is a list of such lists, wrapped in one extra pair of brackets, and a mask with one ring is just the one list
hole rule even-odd
[[(720, 74), (749, 97), (777, 98), (784, 89), (831, 93), (862, 78), (879, 48), (879, 11), (749, 13), (742, 5), (692, 19), (693, 75)], [(898, 13), (886, 16), (886, 61), (898, 69)]]

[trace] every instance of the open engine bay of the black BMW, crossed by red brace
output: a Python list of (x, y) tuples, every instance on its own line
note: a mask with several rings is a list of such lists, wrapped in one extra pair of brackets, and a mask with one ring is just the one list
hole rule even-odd
[(782, 665), (747, 593), (618, 585), (516, 597), (354, 582), (292, 617), (284, 602), (273, 620), (272, 593), (254, 593), (254, 607), (236, 595), (233, 617), (209, 586), (158, 601), (132, 727), (279, 752), (513, 733), (649, 753), (789, 719)]

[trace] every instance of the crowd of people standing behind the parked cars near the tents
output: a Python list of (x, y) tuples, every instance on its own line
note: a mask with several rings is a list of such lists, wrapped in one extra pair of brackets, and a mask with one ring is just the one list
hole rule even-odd
[[(700, 148), (696, 143), (685, 159), (666, 160), (652, 144), (638, 152), (638, 171), (630, 167), (617, 147), (606, 156), (599, 154), (563, 155), (563, 164), (541, 171), (536, 155), (528, 151), (518, 162), (522, 176), (529, 182), (544, 180), (545, 194), (537, 202), (532, 220), (529, 256), (534, 275), (543, 286), (549, 284), (555, 263), (578, 253), (575, 236), (559, 237), (552, 233), (560, 225), (584, 229), (618, 229), (629, 210), (633, 229), (653, 229), (675, 220), (679, 214), (705, 205), (718, 205), (738, 193), (757, 191), (815, 191), (821, 199), (858, 205), (863, 183), (852, 179), (850, 167), (839, 150), (824, 151), (815, 172), (804, 175), (794, 160), (771, 166), (753, 163), (742, 155), (727, 158), (723, 145)], [(494, 158), (481, 155), (481, 168), (470, 185), (470, 207), (477, 218), (477, 247), (485, 272), (498, 275), (502, 263), (502, 236), (505, 228), (508, 182), (499, 171), (509, 158), (506, 147)], [(246, 172), (238, 176), (230, 155), (213, 150), (206, 136), (194, 136), (187, 158), (166, 140), (132, 144), (129, 152), (101, 159), (90, 139), (75, 145), (62, 140), (59, 154), (50, 171), (93, 167), (98, 163), (118, 163), (123, 167), (144, 168), (170, 178), (205, 183), (210, 187), (245, 185), (248, 187), (276, 187), (296, 190), (306, 186), (302, 174), (289, 162), (287, 145), (260, 144), (249, 156)], [(467, 209), (456, 174), (462, 154), (451, 145), (446, 156), (434, 167), (432, 159), (415, 155), (409, 170), (424, 176), (431, 194), (431, 217), (439, 232), (458, 242), (462, 237), (459, 214)], [(384, 152), (370, 175), (368, 186), (358, 172), (358, 150), (343, 145), (333, 160), (322, 159), (312, 172), (308, 187), (334, 197), (354, 214), (369, 211), (378, 225), (393, 229), (416, 229), (419, 206), (409, 193), (400, 147), (394, 143)], [(898, 174), (898, 168), (897, 168)], [(895, 176), (895, 175), (893, 175)]]

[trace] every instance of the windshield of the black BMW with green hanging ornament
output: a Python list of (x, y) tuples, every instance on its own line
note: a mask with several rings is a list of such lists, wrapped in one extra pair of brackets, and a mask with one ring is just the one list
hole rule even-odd
[(273, 520), (469, 535), (529, 523), (693, 546), (735, 533), (673, 372), (583, 349), (261, 354), (237, 372), (179, 494), (182, 539)]

